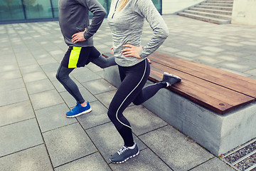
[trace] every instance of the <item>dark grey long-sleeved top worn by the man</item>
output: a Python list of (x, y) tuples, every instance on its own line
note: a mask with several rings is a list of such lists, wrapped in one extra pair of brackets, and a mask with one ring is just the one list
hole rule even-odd
[[(106, 11), (97, 0), (59, 0), (59, 23), (64, 41), (68, 46), (93, 46), (92, 36), (96, 33), (106, 16)], [(92, 12), (90, 24), (89, 11)], [(87, 31), (85, 31), (87, 28)], [(73, 43), (72, 35), (85, 31), (85, 41)]]

